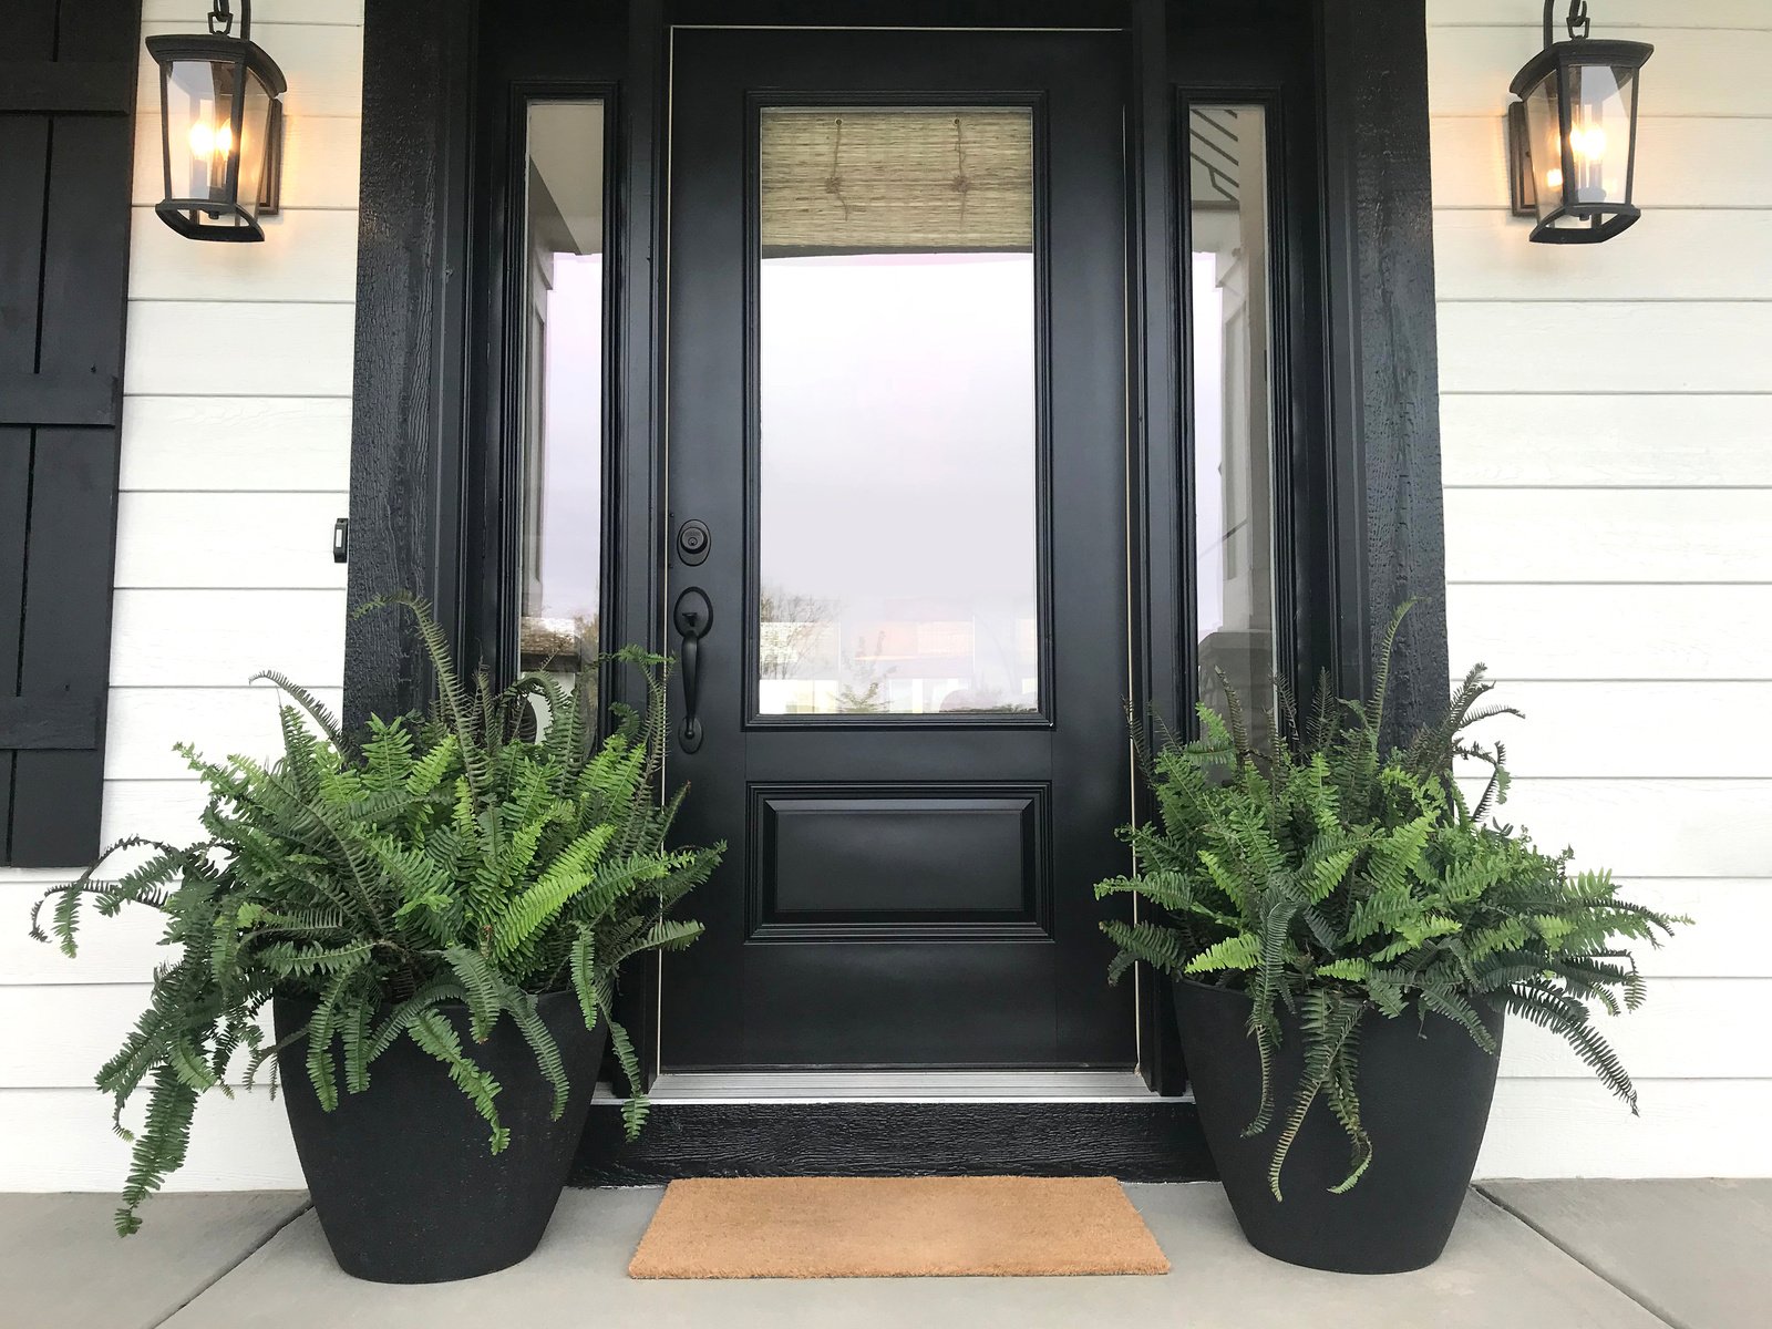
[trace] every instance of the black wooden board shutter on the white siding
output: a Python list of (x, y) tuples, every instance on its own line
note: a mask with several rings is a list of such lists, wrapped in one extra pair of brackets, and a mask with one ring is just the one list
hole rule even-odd
[(11, 0), (0, 58), (0, 863), (99, 851), (140, 0)]

